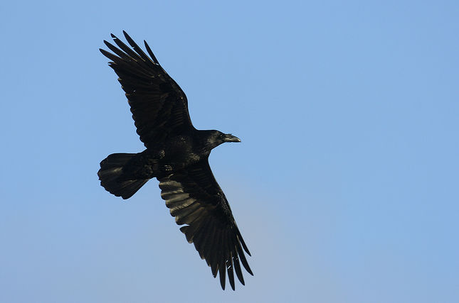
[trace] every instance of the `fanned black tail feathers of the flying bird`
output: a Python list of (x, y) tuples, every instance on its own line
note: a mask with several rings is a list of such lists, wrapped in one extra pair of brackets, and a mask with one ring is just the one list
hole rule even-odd
[(122, 199), (129, 199), (133, 194), (147, 183), (149, 179), (126, 180), (123, 178), (123, 167), (129, 160), (137, 155), (135, 153), (113, 153), (100, 162), (97, 172), (100, 185), (111, 194)]

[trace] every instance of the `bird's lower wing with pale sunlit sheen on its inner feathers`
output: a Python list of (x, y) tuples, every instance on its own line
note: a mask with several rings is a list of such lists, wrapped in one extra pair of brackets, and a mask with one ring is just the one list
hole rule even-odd
[(203, 160), (187, 170), (159, 178), (159, 187), (176, 224), (187, 224), (180, 228), (186, 240), (194, 243), (201, 258), (206, 259), (213, 277), (220, 272), (223, 290), (226, 271), (234, 290), (233, 269), (244, 285), (239, 260), (253, 275), (243, 250), (248, 255), (250, 252), (234, 221), (228, 200), (213, 177), (209, 162)]

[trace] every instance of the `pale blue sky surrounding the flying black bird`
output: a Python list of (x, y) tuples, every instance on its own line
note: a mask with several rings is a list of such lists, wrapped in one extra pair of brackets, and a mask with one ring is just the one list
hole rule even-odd
[[(458, 302), (458, 1), (2, 1), (0, 302)], [(149, 42), (253, 257), (222, 291), (98, 48)]]

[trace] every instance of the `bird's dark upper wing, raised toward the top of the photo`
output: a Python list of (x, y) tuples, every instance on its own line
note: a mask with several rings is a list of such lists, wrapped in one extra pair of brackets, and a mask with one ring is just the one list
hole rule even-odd
[(115, 55), (102, 49), (100, 52), (112, 60), (109, 65), (126, 92), (140, 140), (149, 148), (167, 136), (193, 128), (185, 93), (159, 65), (147, 42), (144, 41), (150, 57), (123, 33), (134, 50), (112, 34), (119, 48), (105, 40), (104, 43)]

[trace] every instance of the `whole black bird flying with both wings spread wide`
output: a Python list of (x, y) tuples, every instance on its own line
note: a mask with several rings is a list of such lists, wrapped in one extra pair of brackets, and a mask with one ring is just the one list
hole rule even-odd
[(189, 243), (217, 272), (225, 289), (225, 276), (234, 290), (234, 271), (244, 285), (240, 261), (250, 275), (244, 250), (250, 252), (239, 232), (228, 200), (213, 177), (209, 155), (224, 142), (241, 142), (220, 131), (194, 128), (188, 101), (178, 84), (167, 75), (149, 45), (147, 54), (130, 38), (132, 48), (112, 34), (116, 45), (104, 40), (113, 53), (100, 49), (112, 60), (110, 67), (126, 93), (137, 133), (147, 148), (142, 153), (113, 153), (100, 162), (100, 184), (117, 197), (132, 197), (156, 177), (161, 197)]

